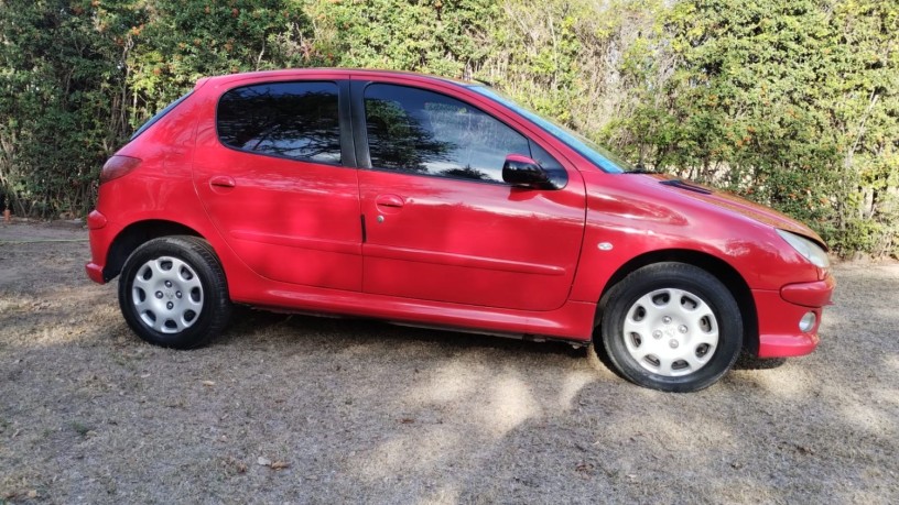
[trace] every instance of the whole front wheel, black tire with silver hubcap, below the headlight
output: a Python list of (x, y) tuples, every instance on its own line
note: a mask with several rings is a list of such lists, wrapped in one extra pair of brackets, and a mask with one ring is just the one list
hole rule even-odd
[(734, 296), (693, 265), (639, 268), (608, 290), (600, 310), (594, 339), (602, 338), (608, 361), (625, 378), (652, 389), (704, 389), (734, 366), (743, 349)]

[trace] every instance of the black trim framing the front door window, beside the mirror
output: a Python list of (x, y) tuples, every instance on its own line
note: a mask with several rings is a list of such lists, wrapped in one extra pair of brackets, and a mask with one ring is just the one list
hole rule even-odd
[(457, 182), (472, 183), (472, 184), (489, 184), (491, 186), (505, 186), (505, 187), (509, 187), (509, 188), (515, 187), (513, 185), (511, 185), (509, 183), (506, 183), (506, 182), (502, 182), (502, 180), (484, 180), (484, 179), (474, 179), (474, 178), (465, 178), (465, 177), (453, 177), (453, 176), (441, 175), (441, 174), (404, 172), (404, 171), (397, 171), (397, 169), (392, 169), (392, 168), (380, 168), (380, 167), (373, 166), (371, 164), (371, 154), (369, 153), (369, 150), (368, 150), (368, 128), (367, 128), (368, 123), (366, 122), (366, 117), (365, 117), (365, 114), (366, 114), (366, 111), (365, 111), (365, 91), (366, 91), (366, 88), (368, 88), (371, 85), (399, 86), (399, 87), (404, 87), (404, 88), (419, 89), (419, 90), (422, 90), (422, 91), (429, 91), (429, 92), (433, 92), (433, 94), (436, 94), (436, 95), (442, 95), (444, 97), (447, 97), (447, 98), (451, 98), (453, 100), (459, 101), (459, 102), (466, 105), (467, 107), (470, 107), (470, 108), (479, 111), (480, 113), (483, 113), (483, 114), (485, 114), (485, 116), (487, 116), (489, 118), (492, 118), (495, 121), (499, 122), (500, 124), (503, 124), (506, 128), (508, 128), (511, 131), (513, 131), (513, 132), (518, 133), (519, 135), (523, 136), (524, 140), (528, 142), (528, 147), (531, 150), (531, 153), (529, 153), (529, 154), (533, 154), (532, 144), (535, 144), (540, 149), (545, 151), (546, 154), (549, 154), (550, 156), (555, 158), (556, 163), (559, 163), (559, 165), (562, 167), (562, 169), (565, 173), (565, 184), (561, 185), (557, 188), (548, 189), (548, 190), (556, 191), (556, 190), (560, 190), (560, 189), (564, 189), (568, 185), (568, 180), (571, 179), (571, 177), (568, 176), (568, 171), (564, 167), (564, 165), (562, 163), (559, 162), (557, 156), (554, 156), (552, 153), (550, 153), (550, 151), (546, 147), (543, 147), (539, 142), (533, 140), (531, 138), (531, 135), (522, 133), (519, 129), (512, 127), (511, 124), (507, 123), (506, 121), (502, 121), (501, 119), (499, 119), (496, 116), (487, 112), (486, 110), (481, 109), (480, 107), (477, 107), (477, 106), (473, 105), (469, 101), (462, 100), (462, 99), (459, 99), (457, 97), (451, 96), (451, 95), (448, 95), (446, 92), (435, 90), (435, 89), (431, 89), (431, 88), (423, 87), (423, 86), (415, 86), (414, 84), (410, 84), (410, 83), (393, 83), (393, 81), (384, 81), (384, 80), (351, 80), (350, 81), (350, 88), (349, 88), (350, 89), (350, 96), (353, 97), (353, 103), (355, 106), (355, 107), (353, 107), (353, 110), (351, 110), (351, 117), (353, 117), (354, 124), (358, 125), (358, 128), (354, 129), (353, 141), (356, 144), (356, 161), (358, 163), (357, 166), (360, 169), (387, 172), (387, 173), (390, 173), (390, 174), (411, 175), (411, 176), (415, 176), (415, 177), (436, 177), (436, 178), (441, 178), (441, 179), (450, 179), (450, 180), (457, 180)]

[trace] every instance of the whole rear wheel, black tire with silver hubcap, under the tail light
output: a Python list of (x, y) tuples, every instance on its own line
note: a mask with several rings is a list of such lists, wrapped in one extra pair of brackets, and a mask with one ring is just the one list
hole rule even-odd
[(131, 253), (119, 277), (119, 307), (140, 338), (174, 349), (205, 344), (231, 315), (215, 251), (188, 235), (153, 239)]

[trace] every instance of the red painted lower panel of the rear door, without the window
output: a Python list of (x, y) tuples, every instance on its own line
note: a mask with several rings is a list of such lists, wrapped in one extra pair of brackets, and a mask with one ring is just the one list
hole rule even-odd
[[(361, 224), (355, 169), (238, 152), (203, 122), (194, 184), (225, 242), (272, 281), (359, 290)], [(232, 188), (213, 186), (226, 175)]]

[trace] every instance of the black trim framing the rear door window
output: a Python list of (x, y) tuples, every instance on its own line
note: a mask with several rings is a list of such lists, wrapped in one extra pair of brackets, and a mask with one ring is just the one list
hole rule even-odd
[[(340, 132), (340, 163), (327, 163), (327, 162), (318, 162), (315, 160), (304, 160), (297, 158), (292, 156), (284, 156), (280, 154), (271, 154), (271, 153), (261, 153), (259, 151), (249, 151), (246, 149), (235, 147), (234, 145), (228, 145), (221, 141), (221, 133), (218, 130), (218, 110), (221, 103), (221, 99), (225, 95), (234, 91), (235, 89), (240, 88), (249, 88), (252, 86), (264, 86), (264, 85), (273, 85), (273, 84), (294, 84), (294, 83), (331, 83), (337, 86), (337, 122), (338, 122), (338, 130)], [(232, 86), (218, 95), (215, 105), (215, 130), (216, 130), (216, 142), (218, 145), (235, 151), (238, 153), (246, 153), (252, 154), (256, 156), (264, 156), (264, 157), (273, 157), (275, 160), (285, 160), (289, 162), (295, 163), (310, 163), (313, 165), (325, 165), (325, 166), (333, 166), (336, 168), (351, 168), (355, 169), (357, 167), (356, 164), (356, 150), (354, 147), (354, 135), (353, 135), (353, 119), (350, 114), (350, 94), (349, 94), (349, 84), (348, 79), (315, 79), (315, 78), (307, 78), (307, 79), (273, 79), (273, 80), (259, 80), (254, 83), (241, 83), (237, 86)]]

